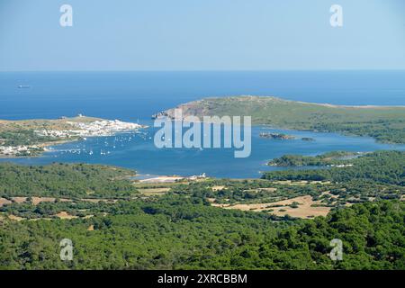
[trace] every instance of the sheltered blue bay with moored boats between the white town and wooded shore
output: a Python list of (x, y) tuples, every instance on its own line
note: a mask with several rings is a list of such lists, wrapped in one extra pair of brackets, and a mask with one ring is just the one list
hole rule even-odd
[[(156, 150), (156, 154), (153, 152), (153, 155), (150, 155), (148, 157), (145, 157), (147, 154), (140, 152), (139, 153), (139, 148), (137, 147), (135, 143), (130, 144), (124, 144), (125, 148), (119, 148), (117, 151), (118, 153), (111, 153), (109, 157), (103, 157), (100, 156), (100, 148), (104, 150), (104, 140), (101, 140), (99, 144), (98, 140), (91, 140), (88, 143), (86, 141), (81, 142), (81, 144), (72, 144), (71, 146), (68, 145), (67, 149), (76, 147), (76, 145), (83, 146), (85, 150), (87, 151), (87, 154), (90, 150), (93, 149), (94, 151), (94, 156), (89, 157), (85, 156), (85, 153), (82, 153), (83, 156), (79, 156), (75, 153), (58, 153), (58, 148), (55, 148), (52, 152), (52, 154), (47, 154), (44, 157), (41, 157), (42, 155), (37, 155), (37, 156), (31, 156), (31, 157), (0, 157), (2, 158), (3, 162), (16, 162), (16, 163), (21, 163), (21, 164), (26, 164), (26, 165), (46, 165), (55, 161), (58, 162), (80, 162), (80, 163), (94, 163), (94, 164), (103, 164), (107, 166), (122, 166), (122, 167), (127, 167), (130, 169), (135, 169), (137, 171), (140, 171), (142, 174), (149, 174), (149, 175), (157, 175), (157, 176), (171, 176), (171, 175), (179, 175), (180, 177), (186, 177), (190, 175), (199, 175), (202, 172), (206, 172), (208, 175), (210, 175), (213, 178), (258, 178), (260, 175), (262, 175), (265, 172), (268, 171), (273, 171), (272, 166), (267, 166), (266, 164), (272, 160), (275, 157), (281, 157), (286, 154), (302, 154), (305, 156), (317, 156), (320, 154), (324, 154), (330, 151), (336, 151), (336, 150), (346, 150), (346, 151), (376, 151), (376, 150), (405, 150), (404, 146), (393, 146), (389, 147), (387, 145), (380, 145), (380, 144), (374, 144), (375, 141), (374, 139), (368, 138), (368, 137), (358, 137), (356, 136), (357, 139), (353, 139), (355, 144), (353, 147), (351, 143), (351, 139), (346, 139), (345, 137), (342, 137), (338, 133), (317, 133), (317, 134), (312, 134), (312, 132), (302, 132), (297, 130), (296, 133), (293, 133), (293, 135), (297, 136), (297, 138), (301, 138), (302, 136), (310, 136), (316, 139), (316, 141), (313, 142), (302, 142), (301, 139), (296, 139), (296, 140), (291, 140), (288, 141), (286, 147), (287, 148), (282, 148), (279, 150), (278, 147), (282, 145), (279, 141), (268, 141), (263, 139), (259, 139), (258, 133), (262, 131), (262, 128), (269, 128), (268, 125), (255, 125), (256, 126), (256, 131), (257, 131), (257, 136), (253, 137), (253, 141), (256, 143), (255, 148), (256, 148), (256, 157), (249, 158), (247, 160), (247, 166), (244, 166), (244, 169), (236, 169), (236, 168), (230, 168), (227, 171), (219, 170), (217, 169), (216, 165), (221, 165), (220, 162), (217, 163), (216, 165), (212, 165), (209, 163), (204, 163), (205, 161), (202, 161), (202, 166), (196, 165), (195, 164), (190, 165), (190, 163), (185, 163), (184, 161), (178, 162), (176, 160), (176, 157), (173, 155), (178, 155), (177, 151), (168, 151), (168, 157), (166, 158), (166, 152), (164, 153), (163, 157), (162, 152), (159, 152), (153, 145), (153, 139), (150, 140), (150, 138), (144, 142), (144, 140), (139, 139), (140, 145), (146, 145), (144, 148), (147, 148), (149, 151), (149, 148), (151, 148), (153, 151)], [(150, 130), (151, 131), (151, 130)], [(147, 131), (150, 133), (150, 131)], [(288, 131), (283, 131), (283, 130), (276, 130), (276, 132), (284, 132), (284, 133), (289, 133)], [(143, 133), (143, 132), (140, 132)], [(127, 137), (128, 139), (128, 137)], [(363, 140), (364, 139), (364, 140)], [(76, 141), (77, 139), (75, 139)], [(110, 144), (110, 149), (112, 148), (112, 139), (109, 140)], [(123, 139), (125, 141), (125, 139)], [(67, 142), (74, 141), (73, 139), (69, 139), (67, 141), (63, 142), (58, 142), (58, 144), (63, 144)], [(326, 142), (325, 142), (326, 141)], [(295, 144), (294, 144), (295, 143)], [(341, 144), (338, 144), (341, 143)], [(347, 143), (347, 144), (346, 144)], [(53, 146), (56, 144), (56, 142), (50, 142), (47, 143), (50, 145), (48, 146)], [(328, 148), (329, 145), (336, 145), (338, 144), (338, 148), (333, 148), (330, 147)], [(44, 144), (45, 145), (45, 144)], [(135, 146), (134, 146), (135, 145)], [(326, 146), (325, 146), (326, 145)], [(348, 145), (348, 146), (347, 146)], [(153, 146), (153, 147), (151, 147)], [(120, 145), (121, 147), (121, 145)], [(290, 148), (288, 148), (290, 147)], [(144, 148), (141, 148), (143, 150)], [(269, 152), (268, 149), (273, 149), (275, 148), (275, 151), (278, 152), (273, 153)], [(292, 149), (292, 148), (297, 148), (297, 149)], [(302, 149), (301, 149), (302, 148)], [(107, 148), (108, 149), (108, 148)], [(96, 152), (97, 151), (97, 152)], [(104, 150), (105, 151), (105, 150)], [(112, 151), (112, 150), (111, 150)], [(212, 150), (213, 151), (213, 150)], [(46, 152), (46, 151), (45, 151)], [(135, 154), (134, 154), (135, 153)], [(149, 153), (149, 152), (148, 152)], [(205, 152), (200, 152), (200, 151), (195, 151), (191, 152), (191, 154), (187, 153), (186, 151), (184, 152), (184, 157), (186, 156), (198, 156), (200, 153), (205, 153)], [(211, 153), (207, 151), (207, 153)], [(53, 157), (55, 156), (60, 156), (60, 157)], [(151, 157), (151, 158), (150, 158)], [(5, 160), (4, 160), (5, 158)], [(8, 159), (7, 159), (8, 158)], [(232, 166), (233, 160), (227, 159), (226, 157), (223, 157), (223, 153), (221, 153), (221, 158), (225, 163), (229, 163), (230, 166)], [(14, 161), (15, 159), (15, 161)], [(30, 160), (31, 159), (31, 160)], [(165, 159), (171, 159), (168, 163)], [(217, 162), (217, 161), (215, 161)], [(164, 166), (165, 168), (162, 168)], [(281, 170), (284, 170), (284, 167), (275, 167), (280, 168)], [(185, 170), (184, 170), (185, 169)], [(157, 180), (157, 179), (155, 179)]]

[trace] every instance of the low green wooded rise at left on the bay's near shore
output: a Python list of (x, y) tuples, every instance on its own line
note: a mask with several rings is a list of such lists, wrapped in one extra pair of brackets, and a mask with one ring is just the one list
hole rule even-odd
[(118, 197), (136, 193), (120, 167), (54, 163), (48, 166), (0, 164), (0, 197)]

